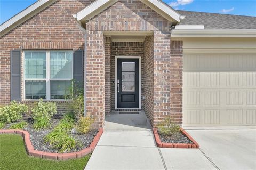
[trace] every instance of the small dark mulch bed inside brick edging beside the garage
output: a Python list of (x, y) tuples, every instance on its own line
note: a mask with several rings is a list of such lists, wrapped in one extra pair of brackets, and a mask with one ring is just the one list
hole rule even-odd
[(185, 136), (182, 132), (179, 132), (173, 136), (162, 135), (159, 131), (157, 131), (161, 142), (163, 143), (193, 143), (187, 136)]

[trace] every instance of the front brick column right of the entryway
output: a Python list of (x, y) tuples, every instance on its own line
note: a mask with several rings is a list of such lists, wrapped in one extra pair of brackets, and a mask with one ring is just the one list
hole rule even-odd
[(154, 32), (154, 126), (170, 115), (170, 35)]

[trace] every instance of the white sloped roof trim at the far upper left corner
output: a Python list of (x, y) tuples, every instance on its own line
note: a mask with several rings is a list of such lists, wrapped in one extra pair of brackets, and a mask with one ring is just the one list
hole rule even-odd
[(12, 30), (29, 18), (33, 17), (36, 13), (42, 11), (47, 6), (50, 6), (55, 1), (57, 0), (39, 0), (33, 5), (27, 7), (27, 9), (21, 11), (17, 15), (14, 15), (14, 17), (2, 23), (2, 25), (0, 26), (0, 36), (3, 36), (8, 31)]

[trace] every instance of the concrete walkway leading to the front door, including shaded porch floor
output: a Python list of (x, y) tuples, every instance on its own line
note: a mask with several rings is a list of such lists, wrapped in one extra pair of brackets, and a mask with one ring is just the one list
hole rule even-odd
[(157, 148), (143, 112), (125, 115), (126, 121), (122, 116), (106, 117), (105, 131), (85, 169), (216, 169), (199, 149)]

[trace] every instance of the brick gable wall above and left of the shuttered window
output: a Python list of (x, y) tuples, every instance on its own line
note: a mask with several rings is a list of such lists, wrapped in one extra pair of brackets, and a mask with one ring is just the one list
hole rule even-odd
[(91, 2), (57, 1), (0, 37), (0, 104), (10, 102), (10, 50), (83, 49), (84, 33), (78, 28), (72, 14), (81, 11)]

